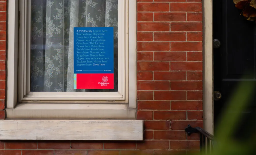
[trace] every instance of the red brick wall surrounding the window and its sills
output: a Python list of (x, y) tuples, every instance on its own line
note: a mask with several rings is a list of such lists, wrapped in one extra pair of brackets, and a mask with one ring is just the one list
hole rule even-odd
[[(202, 127), (201, 0), (137, 0), (137, 119), (145, 140), (2, 141), (0, 155), (176, 154), (199, 149)], [(0, 107), (5, 99), (6, 2), (0, 0)], [(0, 117), (4, 118), (3, 111)]]

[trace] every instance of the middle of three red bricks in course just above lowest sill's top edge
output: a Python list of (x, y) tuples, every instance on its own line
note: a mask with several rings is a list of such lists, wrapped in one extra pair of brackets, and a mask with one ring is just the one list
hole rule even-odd
[(154, 120), (185, 120), (186, 111), (154, 111)]

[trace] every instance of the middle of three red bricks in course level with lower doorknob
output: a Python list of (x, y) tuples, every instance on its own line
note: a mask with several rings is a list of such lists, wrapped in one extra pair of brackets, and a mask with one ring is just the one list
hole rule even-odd
[(186, 100), (186, 91), (155, 91), (155, 100)]

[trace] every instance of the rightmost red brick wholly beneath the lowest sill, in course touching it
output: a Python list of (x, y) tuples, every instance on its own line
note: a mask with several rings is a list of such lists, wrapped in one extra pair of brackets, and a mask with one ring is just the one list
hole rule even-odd
[(136, 149), (135, 142), (104, 142), (104, 149)]

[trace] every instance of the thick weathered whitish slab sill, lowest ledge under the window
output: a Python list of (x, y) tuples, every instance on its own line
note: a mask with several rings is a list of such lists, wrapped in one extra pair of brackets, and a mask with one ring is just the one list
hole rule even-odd
[(142, 120), (0, 120), (1, 140), (143, 140)]

